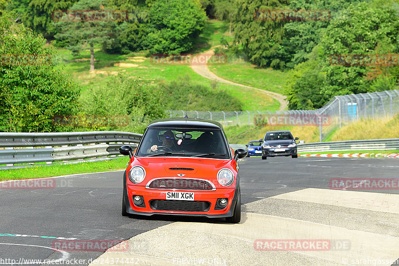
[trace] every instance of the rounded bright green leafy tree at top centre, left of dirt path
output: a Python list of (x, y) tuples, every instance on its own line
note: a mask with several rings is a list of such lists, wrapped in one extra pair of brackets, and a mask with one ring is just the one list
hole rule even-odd
[(205, 20), (200, 4), (192, 0), (157, 0), (149, 11), (146, 45), (151, 53), (189, 51)]

